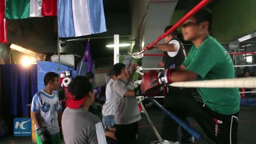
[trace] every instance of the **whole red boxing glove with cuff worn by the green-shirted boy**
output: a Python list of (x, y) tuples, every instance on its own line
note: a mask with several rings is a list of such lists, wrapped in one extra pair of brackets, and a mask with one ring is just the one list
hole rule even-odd
[(148, 97), (153, 97), (159, 94), (160, 86), (168, 83), (172, 83), (171, 69), (160, 72), (150, 70), (148, 73), (145, 73), (142, 78), (141, 91)]

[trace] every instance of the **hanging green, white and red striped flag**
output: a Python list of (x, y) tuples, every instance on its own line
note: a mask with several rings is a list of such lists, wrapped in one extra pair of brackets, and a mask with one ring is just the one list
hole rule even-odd
[(57, 16), (57, 0), (5, 0), (6, 19)]

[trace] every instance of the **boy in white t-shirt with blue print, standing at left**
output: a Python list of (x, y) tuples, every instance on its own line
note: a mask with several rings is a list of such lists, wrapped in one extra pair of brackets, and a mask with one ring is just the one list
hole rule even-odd
[[(56, 90), (59, 86), (59, 75), (48, 72), (44, 76), (44, 89), (34, 95), (31, 112), (37, 130), (37, 143), (61, 143), (59, 122), (62, 106)], [(59, 122), (58, 122), (59, 121)]]

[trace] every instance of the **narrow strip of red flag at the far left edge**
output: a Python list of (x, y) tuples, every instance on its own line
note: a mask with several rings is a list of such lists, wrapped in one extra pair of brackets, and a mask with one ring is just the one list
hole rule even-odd
[(7, 20), (4, 18), (5, 0), (0, 0), (0, 43), (7, 43)]

